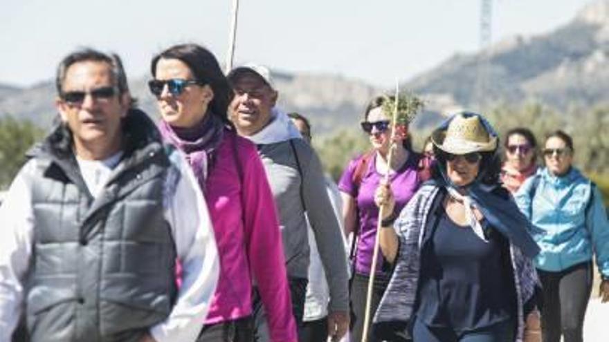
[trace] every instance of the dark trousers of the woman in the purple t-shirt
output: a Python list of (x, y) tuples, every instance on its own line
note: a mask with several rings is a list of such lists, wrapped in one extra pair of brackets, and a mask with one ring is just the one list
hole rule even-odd
[[(366, 310), (366, 298), (368, 294), (369, 276), (363, 274), (354, 274), (351, 281), (351, 341), (361, 341), (364, 330), (364, 316)], [(389, 283), (388, 278), (382, 278), (378, 275), (374, 277), (374, 286), (372, 287), (372, 303), (370, 303), (370, 323), (374, 318), (376, 308), (379, 307), (379, 302), (383, 298), (385, 289)], [(381, 342), (371, 332), (370, 325), (368, 326), (368, 342)]]

